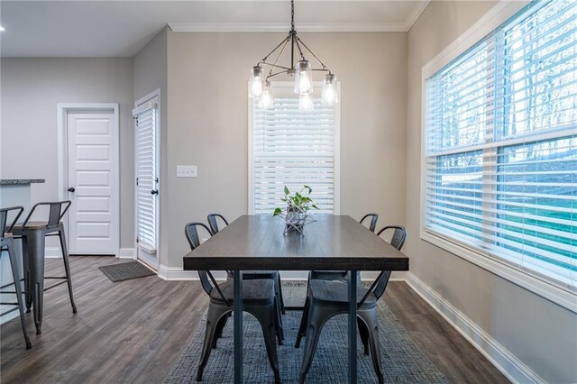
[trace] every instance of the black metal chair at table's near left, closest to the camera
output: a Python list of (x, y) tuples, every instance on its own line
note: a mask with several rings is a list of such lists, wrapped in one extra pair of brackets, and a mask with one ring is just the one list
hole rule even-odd
[[(205, 224), (188, 223), (185, 226), (185, 234), (192, 250), (200, 245), (197, 227), (204, 228), (207, 233), (212, 235)], [(234, 283), (232, 280), (227, 280), (219, 285), (209, 270), (199, 270), (198, 275), (202, 288), (210, 297), (206, 315), (205, 342), (197, 370), (197, 381), (201, 381), (210, 352), (216, 347), (217, 334), (222, 333), (226, 319), (234, 309)], [(261, 324), (270, 367), (274, 372), (275, 382), (280, 382), (277, 344), (275, 342), (277, 306), (274, 284), (271, 279), (243, 281), (243, 310), (256, 317)]]

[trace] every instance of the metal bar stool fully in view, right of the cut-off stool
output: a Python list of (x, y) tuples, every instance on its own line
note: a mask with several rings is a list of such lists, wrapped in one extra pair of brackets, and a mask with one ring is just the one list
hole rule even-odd
[[(24, 285), (26, 291), (26, 310), (34, 306), (34, 324), (36, 325), (36, 334), (41, 334), (42, 312), (44, 303), (44, 291), (68, 283), (70, 304), (72, 313), (76, 314), (77, 309), (74, 304), (72, 294), (72, 281), (70, 279), (69, 251), (66, 246), (66, 237), (64, 234), (64, 224), (60, 221), (68, 211), (71, 202), (57, 201), (51, 203), (38, 203), (32, 206), (32, 211), (26, 217), (23, 224), (14, 225), (14, 235), (22, 236), (23, 253), (24, 253)], [(30, 219), (39, 206), (49, 206), (48, 221), (31, 222)], [(62, 248), (62, 260), (64, 261), (65, 277), (45, 277), (44, 276), (44, 244), (46, 236), (59, 236), (60, 247)], [(58, 284), (44, 289), (44, 279), (62, 279)]]

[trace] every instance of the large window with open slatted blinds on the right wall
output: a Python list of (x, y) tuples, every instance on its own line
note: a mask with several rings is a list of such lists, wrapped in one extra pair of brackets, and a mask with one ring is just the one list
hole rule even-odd
[(577, 2), (528, 5), (424, 89), (423, 237), (574, 294)]

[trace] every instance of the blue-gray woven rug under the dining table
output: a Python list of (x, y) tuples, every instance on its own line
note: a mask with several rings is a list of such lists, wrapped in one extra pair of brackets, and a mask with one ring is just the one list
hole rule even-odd
[[(283, 284), (285, 302), (304, 297), (304, 284)], [(447, 379), (435, 365), (410, 340), (405, 328), (390, 312), (389, 307), (380, 300), (378, 306), (380, 319), (380, 352), (388, 383), (445, 383)], [(282, 321), (285, 329), (285, 341), (279, 346), (279, 370), (283, 383), (298, 382), (298, 373), (303, 356), (304, 341), (296, 349), (295, 336), (300, 323), (301, 311), (287, 311)], [(232, 320), (232, 319), (231, 319)], [(346, 315), (337, 315), (323, 327), (316, 349), (315, 360), (307, 375), (309, 383), (343, 383), (347, 375)], [(196, 382), (198, 361), (204, 340), (206, 313), (197, 326), (188, 346), (180, 354), (178, 361), (169, 371), (165, 383)], [(261, 326), (252, 315), (243, 315), (243, 382), (274, 382), (272, 370), (264, 348)], [(359, 340), (358, 382), (374, 383), (377, 377), (371, 363), (371, 357), (362, 353)], [(205, 383), (234, 382), (233, 321), (224, 328), (223, 338), (212, 351), (204, 370)]]

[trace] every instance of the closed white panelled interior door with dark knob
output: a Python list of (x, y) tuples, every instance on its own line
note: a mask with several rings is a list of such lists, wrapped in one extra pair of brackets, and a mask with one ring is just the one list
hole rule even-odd
[(118, 251), (118, 115), (68, 113), (69, 252)]

